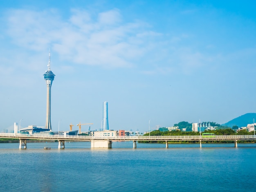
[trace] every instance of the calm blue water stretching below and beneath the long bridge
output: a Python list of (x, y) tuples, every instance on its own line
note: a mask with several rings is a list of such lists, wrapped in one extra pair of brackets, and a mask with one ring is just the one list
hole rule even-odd
[[(256, 144), (0, 143), (0, 191), (256, 191)], [(43, 150), (51, 147), (51, 150)]]

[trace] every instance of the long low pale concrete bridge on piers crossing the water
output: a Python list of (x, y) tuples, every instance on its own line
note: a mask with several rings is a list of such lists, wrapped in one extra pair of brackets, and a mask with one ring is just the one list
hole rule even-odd
[(0, 138), (17, 138), (20, 140), (19, 148), (27, 148), (27, 139), (35, 140), (58, 140), (58, 148), (65, 148), (65, 141), (90, 141), (91, 148), (111, 148), (112, 141), (133, 141), (133, 148), (137, 147), (137, 141), (199, 141), (202, 147), (202, 141), (234, 141), (237, 147), (237, 141), (256, 140), (255, 135), (214, 135), (214, 136), (83, 136), (83, 135), (51, 135), (51, 134), (14, 134), (0, 133)]

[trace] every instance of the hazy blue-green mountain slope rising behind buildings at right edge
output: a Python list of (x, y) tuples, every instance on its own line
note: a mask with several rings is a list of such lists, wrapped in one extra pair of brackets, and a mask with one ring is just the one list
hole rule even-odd
[(253, 123), (253, 118), (255, 118), (255, 123), (256, 123), (256, 113), (247, 113), (244, 115), (241, 115), (237, 118), (232, 119), (231, 121), (224, 123), (222, 125), (228, 126), (228, 127), (233, 127), (234, 125), (237, 125), (238, 127), (246, 127), (247, 124), (252, 124)]

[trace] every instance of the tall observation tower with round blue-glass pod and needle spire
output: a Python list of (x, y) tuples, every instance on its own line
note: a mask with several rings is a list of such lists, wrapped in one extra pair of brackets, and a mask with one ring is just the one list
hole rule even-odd
[(52, 130), (51, 125), (51, 87), (52, 87), (52, 81), (54, 80), (54, 74), (51, 71), (51, 56), (49, 51), (49, 63), (47, 65), (48, 69), (45, 71), (45, 74), (43, 75), (46, 81), (47, 85), (47, 100), (46, 100), (46, 124), (45, 129)]

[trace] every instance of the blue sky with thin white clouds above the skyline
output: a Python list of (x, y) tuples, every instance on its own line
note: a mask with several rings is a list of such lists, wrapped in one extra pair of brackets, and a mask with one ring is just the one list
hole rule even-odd
[(0, 131), (146, 132), (256, 112), (254, 0), (0, 0)]

